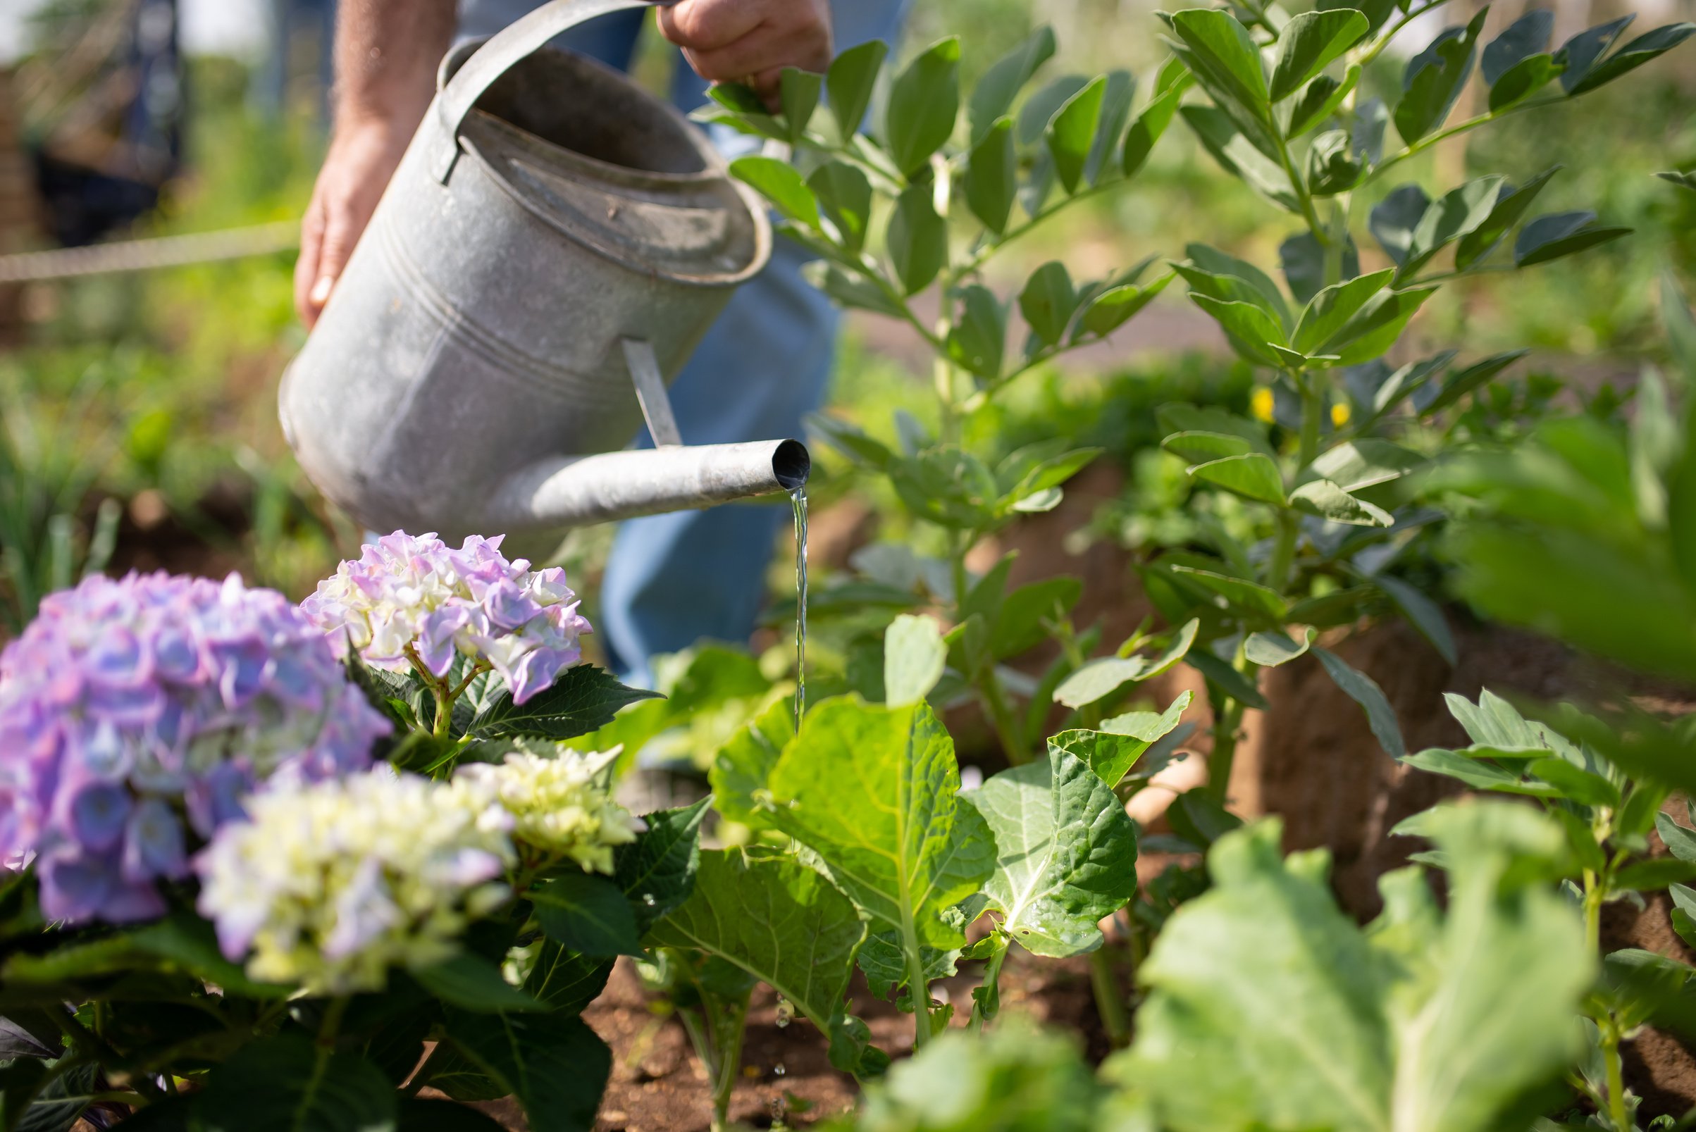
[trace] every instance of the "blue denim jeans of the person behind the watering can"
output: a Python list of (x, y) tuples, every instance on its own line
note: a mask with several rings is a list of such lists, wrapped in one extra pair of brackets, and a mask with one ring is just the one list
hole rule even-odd
[[(461, 0), (460, 34), (490, 36), (539, 0)], [(906, 0), (833, 0), (836, 49), (868, 39), (894, 46)], [(643, 10), (614, 12), (558, 41), (628, 69)], [(678, 59), (673, 102), (692, 110), (706, 83)], [(716, 134), (726, 153), (739, 134)], [(811, 256), (778, 239), (772, 263), (745, 283), (672, 385), (685, 444), (799, 437), (801, 419), (824, 400), (836, 352), (836, 308), (801, 278)], [(646, 434), (639, 441), (650, 444)], [(790, 508), (729, 503), (622, 524), (612, 542), (595, 630), (614, 669), (648, 683), (648, 658), (711, 637), (746, 641), (765, 598), (765, 569)]]

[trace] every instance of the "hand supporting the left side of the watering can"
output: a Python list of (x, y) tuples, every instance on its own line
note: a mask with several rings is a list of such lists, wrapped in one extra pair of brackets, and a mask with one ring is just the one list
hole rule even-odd
[(312, 203), (300, 224), (295, 261), (295, 310), (307, 327), (317, 322), (329, 293), (348, 266), (353, 246), (371, 222), (377, 202), (395, 175), (412, 130), (380, 119), (338, 125), (324, 168), (312, 186)]

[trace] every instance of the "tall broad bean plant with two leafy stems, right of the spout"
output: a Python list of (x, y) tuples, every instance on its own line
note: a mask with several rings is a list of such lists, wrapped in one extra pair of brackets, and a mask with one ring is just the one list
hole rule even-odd
[[(1029, 88), (1055, 51), (1048, 29), (963, 93), (960, 42), (945, 39), (892, 76), (870, 134), (860, 127), (879, 88), (882, 44), (843, 53), (823, 76), (787, 73), (780, 112), (745, 88), (714, 88), (717, 105), (704, 117), (792, 149), (792, 163), (743, 158), (733, 173), (767, 197), (789, 237), (817, 252), (817, 285), (846, 307), (901, 319), (934, 354), (936, 436), (904, 419), (895, 451), (841, 420), (816, 420), (850, 458), (887, 474), (916, 519), (948, 535), (940, 561), (911, 551), (862, 558), (868, 576), (845, 602), (941, 607), (953, 635), (940, 698), (974, 695), (1009, 761), (1041, 746), (1055, 703), (1101, 724), (1138, 685), (1182, 661), (1208, 680), (1213, 702), (1209, 798), (1194, 805), (1216, 810), (1243, 710), (1265, 707), (1257, 673), (1309, 649), (1362, 703), (1386, 751), (1404, 752), (1377, 685), (1311, 641), (1364, 613), (1394, 612), (1453, 656), (1437, 603), (1389, 571), (1440, 519), (1408, 490), (1428, 452), (1398, 441), (1455, 410), (1525, 351), (1386, 358), (1445, 281), (1535, 268), (1626, 229), (1589, 212), (1535, 214), (1559, 169), (1523, 185), (1489, 175), (1435, 200), (1416, 183), (1384, 186), (1438, 142), (1582, 97), (1696, 31), (1674, 24), (1623, 41), (1632, 24), (1623, 17), (1554, 49), (1554, 15), (1538, 8), (1484, 42), (1486, 8), (1413, 54), (1379, 97), (1369, 86), (1389, 69), (1384, 53), (1442, 5), (1379, 0), (1292, 15), (1277, 3), (1228, 3), (1160, 14), (1172, 56), (1143, 97), (1123, 69)], [(1486, 108), (1450, 122), (1474, 75)], [(1013, 297), (990, 290), (985, 268), (999, 252), (1062, 210), (1135, 183), (1177, 119), (1228, 175), (1291, 217), (1282, 283), (1192, 242), (1162, 266), (1157, 251), (1121, 273), (1075, 281), (1052, 261)], [(1367, 232), (1379, 263), (1362, 273)], [(1091, 659), (1099, 634), (1068, 620), (1075, 580), (1009, 593), (1006, 564), (974, 578), (965, 561), (1021, 513), (1058, 505), (1062, 485), (1094, 452), (1057, 439), (990, 464), (962, 446), (962, 420), (1019, 375), (1111, 334), (1175, 280), (1265, 383), (1255, 398), (1260, 419), (1169, 405), (1165, 447), (1199, 485), (1260, 508), (1267, 537), (1216, 524), (1209, 546), (1148, 564), (1143, 583), (1167, 629)], [(921, 315), (929, 303), (934, 319)], [(1013, 307), (1024, 325), (1018, 347), (1007, 344)], [(1004, 666), (1045, 637), (1062, 654), (1040, 680)], [(1024, 693), (1023, 710), (1014, 690)]]

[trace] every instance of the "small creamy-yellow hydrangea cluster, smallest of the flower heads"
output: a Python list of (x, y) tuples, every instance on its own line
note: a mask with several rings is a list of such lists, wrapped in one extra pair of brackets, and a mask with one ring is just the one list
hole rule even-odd
[(612, 871), (612, 847), (636, 841), (643, 825), (612, 800), (605, 754), (514, 751), (504, 763), (470, 763), (455, 781), (475, 783), (512, 813), (512, 835), (556, 857), (568, 857), (587, 873)]

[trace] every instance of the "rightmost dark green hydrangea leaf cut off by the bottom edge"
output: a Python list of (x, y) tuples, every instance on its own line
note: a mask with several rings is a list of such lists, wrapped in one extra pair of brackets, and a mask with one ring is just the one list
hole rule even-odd
[(612, 1051), (582, 1018), (449, 1010), (448, 1040), (507, 1086), (534, 1132), (595, 1127)]

